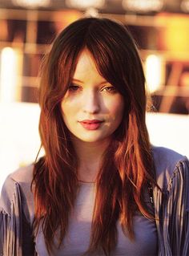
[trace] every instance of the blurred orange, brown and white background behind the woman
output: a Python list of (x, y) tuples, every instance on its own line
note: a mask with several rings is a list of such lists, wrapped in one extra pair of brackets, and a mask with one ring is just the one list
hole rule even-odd
[(189, 156), (189, 0), (0, 0), (0, 189), (38, 153), (42, 57), (60, 30), (87, 15), (129, 28), (154, 105), (151, 143)]

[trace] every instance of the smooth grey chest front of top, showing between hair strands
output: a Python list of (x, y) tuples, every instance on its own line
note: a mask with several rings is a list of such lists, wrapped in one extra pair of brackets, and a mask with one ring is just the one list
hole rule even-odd
[[(92, 184), (81, 185), (74, 212), (70, 216), (69, 229), (66, 237), (62, 242), (62, 246), (58, 250), (54, 250), (54, 254), (52, 255), (78, 256), (85, 253), (90, 243), (94, 197), (94, 186)], [(143, 217), (141, 213), (136, 213), (134, 216), (135, 241), (133, 242), (123, 234), (119, 221), (117, 223), (117, 230), (118, 242), (112, 255), (134, 256), (157, 254), (155, 221)], [(39, 256), (49, 255), (46, 251), (42, 230), (39, 230), (35, 243)], [(103, 255), (104, 254), (99, 254), (99, 256)]]

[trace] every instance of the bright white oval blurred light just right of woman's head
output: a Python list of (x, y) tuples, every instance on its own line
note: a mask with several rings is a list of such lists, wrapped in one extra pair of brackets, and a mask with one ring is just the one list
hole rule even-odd
[(146, 59), (145, 70), (147, 88), (150, 93), (159, 90), (163, 80), (162, 59), (156, 55), (148, 55)]

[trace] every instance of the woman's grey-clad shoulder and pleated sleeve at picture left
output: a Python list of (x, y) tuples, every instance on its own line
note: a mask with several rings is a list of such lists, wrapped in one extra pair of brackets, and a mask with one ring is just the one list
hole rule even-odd
[[(33, 255), (34, 198), (30, 189), (34, 166), (6, 177), (0, 197), (0, 254)], [(26, 253), (26, 254), (25, 254)]]

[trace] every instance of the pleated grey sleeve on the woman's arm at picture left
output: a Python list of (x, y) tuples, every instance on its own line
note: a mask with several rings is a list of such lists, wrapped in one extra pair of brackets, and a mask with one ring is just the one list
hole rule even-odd
[(30, 224), (22, 205), (22, 189), (10, 176), (2, 187), (0, 200), (0, 254), (34, 255)]

